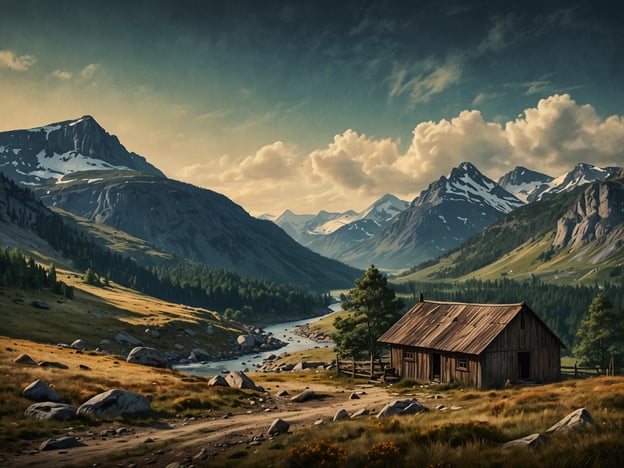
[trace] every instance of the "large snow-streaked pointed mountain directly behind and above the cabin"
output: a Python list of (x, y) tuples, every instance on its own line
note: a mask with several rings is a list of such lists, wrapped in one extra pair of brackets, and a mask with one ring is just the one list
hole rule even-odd
[(383, 230), (340, 257), (365, 268), (401, 270), (459, 246), (523, 202), (471, 163), (454, 168), (416, 197)]

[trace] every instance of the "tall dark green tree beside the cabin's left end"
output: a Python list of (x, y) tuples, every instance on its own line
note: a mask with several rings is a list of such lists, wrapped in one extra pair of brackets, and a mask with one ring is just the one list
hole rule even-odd
[(343, 310), (351, 313), (334, 321), (337, 351), (354, 359), (368, 354), (372, 365), (379, 357), (377, 339), (397, 321), (403, 307), (386, 277), (371, 265), (362, 278), (355, 280), (355, 287), (342, 302)]

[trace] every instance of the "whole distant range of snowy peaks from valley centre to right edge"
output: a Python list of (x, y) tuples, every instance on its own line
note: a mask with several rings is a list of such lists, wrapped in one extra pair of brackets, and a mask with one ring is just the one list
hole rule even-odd
[[(310, 249), (358, 268), (400, 271), (455, 249), (476, 232), (526, 204), (605, 180), (617, 167), (579, 163), (560, 177), (516, 167), (497, 182), (465, 162), (432, 182), (411, 203), (384, 195), (362, 213), (267, 217)], [(374, 207), (381, 217), (370, 217)]]

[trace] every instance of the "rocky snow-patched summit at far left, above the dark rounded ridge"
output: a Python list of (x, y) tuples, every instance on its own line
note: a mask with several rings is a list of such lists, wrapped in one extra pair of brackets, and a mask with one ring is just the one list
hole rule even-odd
[(28, 130), (0, 132), (0, 171), (27, 185), (92, 170), (131, 170), (164, 177), (91, 116)]

